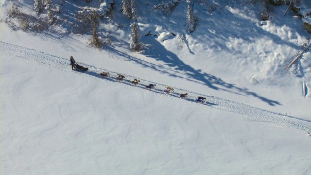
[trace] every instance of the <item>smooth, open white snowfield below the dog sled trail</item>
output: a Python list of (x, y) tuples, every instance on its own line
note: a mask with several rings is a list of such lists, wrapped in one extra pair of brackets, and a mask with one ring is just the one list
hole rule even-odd
[(189, 103), (35, 50), (1, 52), (2, 174), (310, 173), (309, 137), (245, 120), (233, 102)]

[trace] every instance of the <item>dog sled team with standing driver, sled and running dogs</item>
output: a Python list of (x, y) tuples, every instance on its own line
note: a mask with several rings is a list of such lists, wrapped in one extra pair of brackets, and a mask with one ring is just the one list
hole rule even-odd
[[(71, 65), (72, 70), (78, 70), (78, 71), (87, 71), (88, 70), (88, 68), (85, 68), (83, 66), (78, 65), (72, 56), (70, 56), (70, 65)], [(121, 75), (121, 74), (117, 74), (117, 75), (118, 75), (116, 77), (117, 81), (122, 82), (125, 79), (124, 75)], [(101, 73), (98, 74), (98, 76), (101, 78), (106, 78), (106, 77), (110, 76), (110, 73), (106, 72), (106, 71), (102, 71)], [(134, 78), (133, 81), (131, 81), (131, 84), (133, 84), (134, 86), (137, 86), (139, 83), (140, 83), (140, 81), (136, 78)], [(155, 84), (149, 84), (145, 88), (148, 90), (151, 90), (153, 88), (155, 89), (155, 86), (156, 86)], [(165, 87), (165, 89), (163, 90), (163, 93), (165, 93), (165, 94), (170, 94), (171, 92), (174, 92), (174, 88)], [(188, 93), (180, 93), (179, 98), (187, 99), (187, 95), (188, 95)], [(206, 101), (206, 98), (199, 96), (199, 97), (195, 98), (195, 101), (203, 104)]]

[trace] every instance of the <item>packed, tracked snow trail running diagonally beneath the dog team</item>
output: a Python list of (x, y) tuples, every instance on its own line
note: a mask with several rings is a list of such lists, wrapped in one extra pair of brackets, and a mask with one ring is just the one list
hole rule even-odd
[[(15, 56), (18, 58), (22, 58), (25, 60), (33, 61), (38, 64), (42, 65), (48, 65), (49, 67), (56, 68), (59, 70), (63, 71), (70, 71), (71, 66), (69, 65), (69, 58), (65, 59), (59, 56), (39, 52), (33, 49), (28, 49), (25, 47), (9, 44), (6, 42), (1, 42), (1, 54), (4, 55), (9, 55), (9, 56)], [(81, 63), (79, 63), (81, 64)], [(118, 83), (120, 85), (123, 85), (125, 88), (135, 88), (140, 91), (144, 92), (150, 92), (150, 93), (156, 93), (161, 96), (173, 98), (176, 100), (181, 100), (181, 101), (187, 101), (190, 103), (195, 103), (196, 105), (202, 105), (202, 106), (207, 106), (211, 108), (216, 108), (228, 112), (233, 112), (237, 114), (241, 114), (243, 116), (246, 116), (246, 120), (248, 121), (257, 121), (257, 122), (264, 122), (264, 123), (271, 123), (271, 124), (276, 124), (276, 125), (281, 125), (281, 126), (286, 126), (294, 129), (298, 129), (304, 132), (310, 132), (311, 131), (311, 121), (309, 120), (304, 120), (300, 118), (296, 118), (294, 116), (285, 116), (281, 113), (273, 112), (273, 111), (267, 111), (264, 109), (260, 109), (255, 106), (251, 105), (245, 105), (242, 103), (214, 97), (214, 96), (207, 96), (203, 94), (198, 94), (193, 91), (185, 90), (185, 89), (180, 89), (180, 88), (174, 88), (174, 93), (172, 94), (164, 94), (163, 89), (167, 87), (167, 85), (162, 85), (158, 84), (155, 82), (150, 82), (148, 80), (141, 80), (138, 77), (133, 77), (130, 75), (122, 74), (121, 72), (113, 72), (109, 70), (104, 70), (97, 68), (92, 65), (87, 65), (87, 64), (81, 64), (83, 66), (86, 66), (89, 68), (89, 71), (86, 72), (78, 72), (74, 71), (75, 73), (80, 74), (81, 76), (89, 76), (91, 78), (98, 78), (99, 80), (102, 81), (107, 81), (110, 83)], [(102, 71), (108, 71), (110, 73), (110, 76), (108, 78), (100, 78), (98, 76), (98, 73)], [(117, 73), (122, 74), (125, 76), (125, 80), (123, 82), (117, 82), (115, 78), (118, 76)], [(139, 79), (140, 84), (138, 86), (133, 86), (131, 84), (132, 79)], [(156, 89), (153, 90), (148, 90), (145, 88), (146, 85), (149, 84), (156, 84)], [(187, 99), (180, 99), (179, 98), (179, 93), (188, 93), (188, 98)], [(205, 96), (207, 97), (207, 102), (205, 104), (197, 103), (195, 101), (195, 97), (197, 96)]]

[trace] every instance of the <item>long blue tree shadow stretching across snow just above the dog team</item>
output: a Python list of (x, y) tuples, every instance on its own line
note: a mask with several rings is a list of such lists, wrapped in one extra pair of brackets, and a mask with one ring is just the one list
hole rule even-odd
[[(279, 102), (271, 100), (271, 99), (267, 99), (267, 98), (262, 97), (262, 96), (259, 96), (255, 92), (248, 91), (245, 88), (239, 88), (239, 87), (235, 86), (234, 84), (226, 83), (222, 79), (220, 79), (214, 75), (208, 74), (206, 72), (202, 72), (201, 70), (194, 70), (192, 67), (190, 67), (189, 65), (182, 62), (177, 57), (177, 55), (166, 50), (165, 47), (162, 46), (155, 39), (151, 39), (149, 41), (152, 41), (152, 43), (150, 43), (152, 45), (152, 47), (146, 48), (145, 52), (142, 54), (145, 54), (147, 57), (155, 58), (158, 61), (164, 61), (165, 64), (167, 66), (169, 66), (171, 69), (165, 68), (161, 65), (155, 65), (153, 63), (149, 63), (149, 62), (146, 62), (144, 60), (140, 60), (138, 58), (132, 57), (126, 53), (122, 53), (122, 52), (114, 49), (113, 47), (107, 46), (107, 49), (110, 50), (111, 52), (115, 53), (115, 54), (126, 57), (129, 60), (134, 61), (134, 62), (136, 62), (136, 63), (138, 63), (144, 67), (151, 68), (151, 69), (154, 69), (156, 71), (160, 71), (161, 73), (169, 74), (170, 76), (173, 76), (173, 77), (184, 78), (182, 76), (172, 74), (170, 71), (187, 75), (188, 77), (184, 78), (184, 79), (187, 79), (188, 81), (192, 81), (195, 83), (201, 83), (201, 84), (207, 85), (209, 88), (212, 88), (215, 90), (224, 90), (227, 92), (236, 93), (236, 94), (240, 94), (240, 95), (250, 95), (250, 96), (259, 98), (261, 101), (266, 102), (272, 106), (281, 105)], [(161, 52), (159, 52), (159, 51), (161, 51)], [(196, 80), (198, 80), (199, 82)]]

